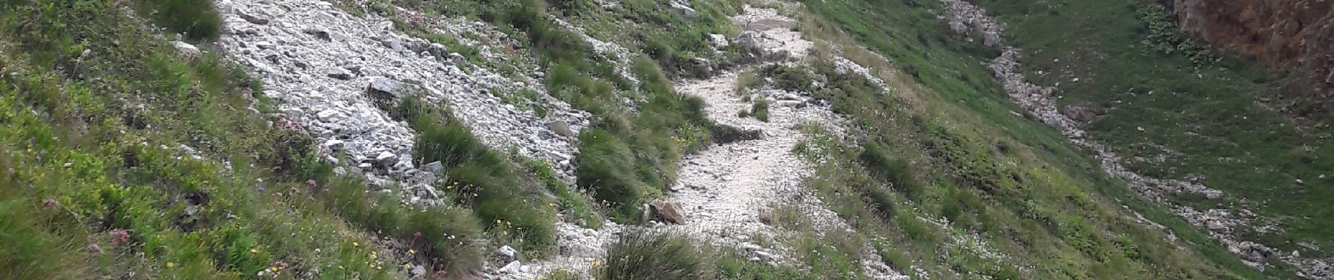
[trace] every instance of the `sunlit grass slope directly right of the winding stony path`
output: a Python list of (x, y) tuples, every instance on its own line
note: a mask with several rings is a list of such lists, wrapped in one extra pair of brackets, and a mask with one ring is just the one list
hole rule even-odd
[[(938, 4), (806, 4), (816, 15), (803, 19), (806, 35), (860, 42), (890, 60), (840, 49), (884, 68), (872, 73), (890, 94), (834, 70), (828, 46), (811, 60), (815, 77), (770, 74), (794, 77), (783, 78), (790, 86), (822, 81), (827, 86), (814, 94), (852, 118), (854, 135), (867, 135), (859, 146), (816, 137), (798, 150), (820, 166), (808, 186), (860, 232), (886, 238), (882, 245), (900, 255), (894, 263), (912, 263), (934, 279), (1263, 277), (1179, 218), (1138, 200), (1050, 127), (1013, 115), (1022, 109), (983, 66), (995, 50), (950, 37), (927, 12)], [(1126, 219), (1121, 204), (1163, 223), (1189, 247)], [(976, 248), (950, 244), (948, 236), (959, 235), (978, 235), (1007, 257), (978, 257)]]

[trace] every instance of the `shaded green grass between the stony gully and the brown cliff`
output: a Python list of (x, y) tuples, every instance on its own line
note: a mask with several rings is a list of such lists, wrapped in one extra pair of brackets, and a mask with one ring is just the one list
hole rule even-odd
[[(1329, 231), (1334, 211), (1323, 207), (1334, 195), (1334, 180), (1317, 179), (1334, 170), (1334, 143), (1322, 138), (1327, 129), (1262, 105), (1282, 100), (1281, 74), (1266, 73), (1249, 58), (1203, 50), (1177, 32), (1163, 8), (1151, 1), (978, 4), (1010, 24), (1009, 37), (1025, 49), (1030, 72), (1058, 73), (1033, 80), (1061, 82), (1062, 106), (1110, 107), (1089, 125), (1095, 139), (1123, 158), (1165, 155), (1162, 162), (1131, 161), (1129, 167), (1159, 178), (1202, 175), (1202, 183), (1253, 202), (1242, 206), (1227, 199), (1223, 207), (1250, 208), (1281, 222), (1285, 230), (1242, 235), (1281, 251), (1302, 249), (1302, 256), (1330, 256), (1297, 243), (1334, 245), (1334, 231)], [(1069, 82), (1073, 77), (1082, 80)], [(1178, 202), (1197, 207), (1219, 203)]]

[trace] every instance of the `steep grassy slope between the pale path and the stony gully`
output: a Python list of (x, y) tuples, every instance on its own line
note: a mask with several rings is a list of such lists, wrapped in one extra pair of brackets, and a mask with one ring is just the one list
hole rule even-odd
[[(871, 135), (883, 135), (876, 141), (888, 147), (883, 150), (912, 162), (910, 170), (922, 182), (916, 188), (899, 190), (904, 198), (898, 202), (907, 200), (914, 207), (896, 208), (946, 216), (966, 232), (986, 236), (1010, 257), (1021, 260), (1019, 267), (1031, 268), (1017, 269), (1029, 277), (1287, 276), (1282, 271), (1261, 273), (1243, 265), (1189, 223), (1141, 200), (1125, 183), (1106, 178), (1097, 162), (1069, 145), (1065, 137), (1023, 118), (1017, 113), (1023, 110), (1011, 105), (984, 68), (984, 61), (995, 57), (996, 50), (950, 36), (944, 23), (935, 19), (943, 11), (938, 3), (806, 4), (831, 23), (802, 25), (808, 35), (846, 31), (856, 42), (884, 54), (892, 68), (900, 69), (888, 78), (900, 90), (898, 98), (859, 90), (830, 97), (844, 101), (844, 105), (835, 102), (835, 107), (858, 117)], [(851, 38), (838, 42), (848, 44)], [(856, 48), (846, 50), (858, 52)], [(872, 61), (874, 57), (854, 60)], [(882, 98), (884, 101), (866, 102)], [(871, 171), (902, 169), (866, 167)], [(875, 200), (875, 194), (870, 195), (867, 199)], [(962, 214), (956, 204), (963, 204)], [(1185, 242), (1177, 244), (1186, 248), (1173, 249), (1166, 236), (1133, 219), (1134, 214), (1121, 206), (1166, 226)], [(899, 228), (912, 227), (899, 224)], [(930, 242), (908, 242), (914, 243), (923, 249), (920, 255), (932, 255)]]

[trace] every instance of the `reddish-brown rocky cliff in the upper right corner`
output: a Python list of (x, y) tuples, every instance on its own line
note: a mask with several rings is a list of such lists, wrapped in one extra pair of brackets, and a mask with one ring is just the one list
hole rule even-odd
[[(1182, 32), (1294, 70), (1283, 96), (1334, 106), (1334, 0), (1161, 0)], [(1302, 81), (1297, 81), (1302, 80)], [(1295, 84), (1295, 85), (1294, 85)], [(1305, 84), (1305, 85), (1303, 85)]]

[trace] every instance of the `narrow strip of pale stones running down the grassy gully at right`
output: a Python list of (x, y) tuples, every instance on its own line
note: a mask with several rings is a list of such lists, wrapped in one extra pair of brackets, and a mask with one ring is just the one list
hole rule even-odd
[(1254, 227), (1253, 220), (1255, 220), (1255, 215), (1249, 211), (1243, 210), (1242, 214), (1245, 215), (1234, 215), (1227, 210), (1219, 208), (1199, 211), (1169, 202), (1167, 195), (1195, 194), (1207, 199), (1225, 199), (1226, 194), (1199, 183), (1145, 176), (1125, 167), (1122, 159), (1111, 149), (1086, 138), (1087, 133), (1071, 117), (1081, 117), (1081, 114), (1058, 110), (1055, 97), (1053, 96), (1055, 88), (1034, 85), (1025, 78), (1025, 74), (1019, 70), (1021, 49), (1006, 44), (1003, 37), (999, 36), (1005, 31), (1003, 25), (967, 1), (940, 0), (940, 3), (948, 7), (950, 27), (954, 32), (967, 33), (968, 28), (974, 28), (983, 33), (986, 45), (1002, 49), (1000, 56), (992, 60), (988, 68), (995, 73), (996, 80), (1000, 80), (1005, 85), (1010, 97), (1039, 121), (1055, 127), (1070, 138), (1070, 142), (1093, 150), (1103, 171), (1125, 179), (1129, 187), (1138, 191), (1142, 196), (1167, 204), (1173, 214), (1185, 218), (1197, 228), (1203, 230), (1209, 236), (1222, 242), (1229, 251), (1241, 256), (1247, 265), (1255, 269), (1263, 271), (1267, 267), (1265, 261), (1270, 256), (1278, 256), (1283, 263), (1295, 267), (1299, 276), (1334, 279), (1334, 265), (1330, 265), (1329, 260), (1302, 259), (1295, 251), (1281, 252), (1255, 242), (1239, 240), (1239, 236), (1234, 234), (1238, 231), (1238, 227), (1253, 227), (1249, 230), (1255, 232), (1273, 231), (1273, 227), (1277, 227), (1273, 224)]

